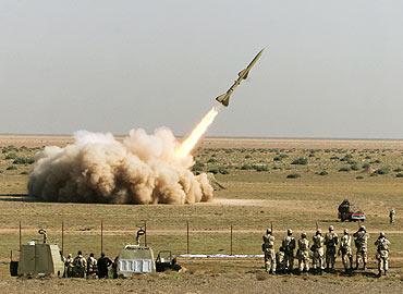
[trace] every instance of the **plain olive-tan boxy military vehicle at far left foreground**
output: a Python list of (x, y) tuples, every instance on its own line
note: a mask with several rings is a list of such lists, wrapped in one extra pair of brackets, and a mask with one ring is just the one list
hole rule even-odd
[[(46, 230), (40, 229), (39, 234), (44, 236), (42, 242), (33, 240), (26, 245), (21, 245), (20, 260), (10, 264), (10, 272), (19, 277), (62, 277), (64, 262), (60, 248), (56, 244), (47, 243)], [(13, 268), (12, 268), (13, 267)]]

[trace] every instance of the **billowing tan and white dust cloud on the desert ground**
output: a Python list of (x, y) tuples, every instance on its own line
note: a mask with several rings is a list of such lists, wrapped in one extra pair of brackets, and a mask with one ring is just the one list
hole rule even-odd
[(212, 198), (205, 173), (194, 175), (191, 155), (168, 128), (152, 135), (132, 130), (123, 142), (112, 134), (76, 132), (64, 148), (36, 155), (28, 191), (47, 201), (105, 204), (193, 204)]

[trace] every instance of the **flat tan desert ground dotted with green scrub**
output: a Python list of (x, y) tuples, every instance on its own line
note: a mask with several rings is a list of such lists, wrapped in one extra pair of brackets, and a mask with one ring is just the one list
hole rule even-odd
[[(0, 289), (9, 293), (257, 293), (340, 292), (401, 293), (403, 280), (403, 140), (331, 140), (205, 138), (194, 151), (194, 172), (210, 172), (225, 188), (215, 192), (211, 203), (182, 206), (131, 206), (51, 204), (27, 195), (33, 159), (44, 146), (65, 146), (70, 136), (0, 136)], [(340, 235), (357, 223), (338, 221), (338, 206), (349, 198), (367, 216), (370, 233), (369, 270), (352, 277), (277, 275), (264, 272), (260, 259), (179, 258), (186, 272), (141, 275), (129, 280), (22, 280), (11, 278), (9, 261), (19, 257), (19, 222), (22, 243), (39, 238), (45, 228), (49, 242), (63, 252), (100, 254), (100, 222), (103, 250), (113, 258), (134, 243), (135, 231), (147, 223), (147, 245), (156, 253), (170, 249), (185, 254), (186, 222), (191, 254), (260, 254), (261, 235), (272, 222), (276, 247), (288, 228), (308, 238), (316, 222), (330, 224)], [(396, 221), (389, 223), (389, 210)], [(375, 278), (376, 248), (380, 231), (391, 241), (389, 277)], [(340, 258), (337, 268), (341, 270)]]

